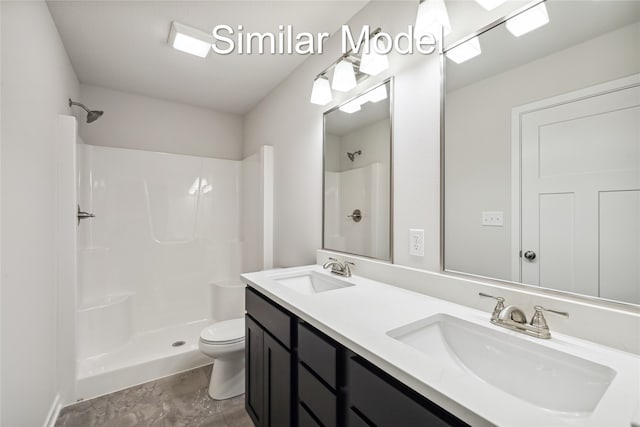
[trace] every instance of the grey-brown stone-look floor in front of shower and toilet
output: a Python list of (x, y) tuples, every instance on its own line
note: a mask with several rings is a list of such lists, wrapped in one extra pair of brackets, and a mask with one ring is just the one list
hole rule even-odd
[(244, 395), (209, 397), (211, 365), (64, 408), (56, 427), (253, 427)]

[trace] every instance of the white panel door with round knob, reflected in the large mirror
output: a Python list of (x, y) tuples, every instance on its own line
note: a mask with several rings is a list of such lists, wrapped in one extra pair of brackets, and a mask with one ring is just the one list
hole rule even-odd
[(520, 142), (522, 281), (640, 303), (640, 87), (524, 113)]

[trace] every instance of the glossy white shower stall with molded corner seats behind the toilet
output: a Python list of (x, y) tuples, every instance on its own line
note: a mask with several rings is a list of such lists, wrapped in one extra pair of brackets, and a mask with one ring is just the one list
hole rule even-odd
[(76, 398), (210, 363), (198, 337), (226, 315), (211, 283), (242, 269), (247, 167), (78, 145), (78, 202), (96, 218), (78, 227)]

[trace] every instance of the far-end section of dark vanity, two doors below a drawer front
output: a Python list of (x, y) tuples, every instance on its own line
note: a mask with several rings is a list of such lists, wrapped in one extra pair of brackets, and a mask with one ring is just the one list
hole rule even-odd
[(293, 425), (293, 317), (247, 288), (246, 409), (257, 427)]

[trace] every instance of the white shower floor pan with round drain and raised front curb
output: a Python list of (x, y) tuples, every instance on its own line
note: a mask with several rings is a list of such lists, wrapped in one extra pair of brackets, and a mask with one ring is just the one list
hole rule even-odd
[[(212, 362), (200, 353), (201, 320), (145, 332), (109, 353), (78, 361), (76, 400), (90, 399)], [(184, 344), (173, 344), (184, 341)]]

